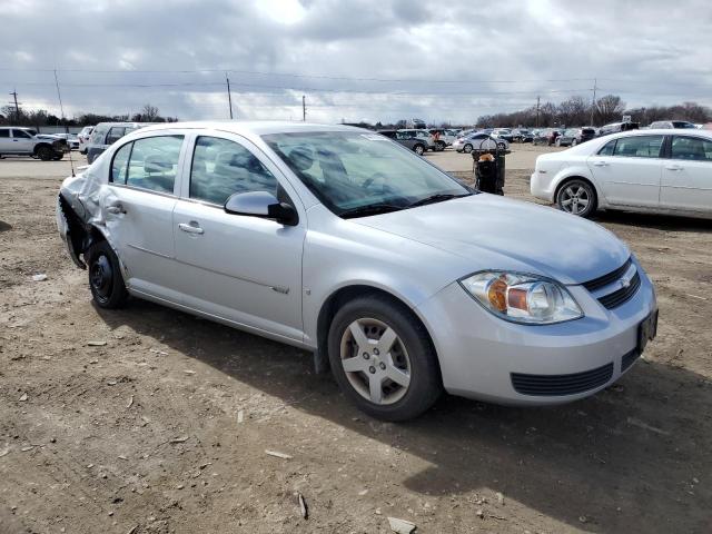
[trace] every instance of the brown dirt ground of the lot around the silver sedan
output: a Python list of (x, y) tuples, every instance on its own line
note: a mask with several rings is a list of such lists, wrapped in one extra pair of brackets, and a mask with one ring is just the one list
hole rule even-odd
[[(92, 306), (55, 227), (67, 167), (0, 161), (2, 534), (712, 532), (712, 222), (597, 218), (660, 300), (615, 386), (550, 408), (446, 396), (384, 424), (305, 352)], [(528, 174), (506, 194), (531, 200)]]

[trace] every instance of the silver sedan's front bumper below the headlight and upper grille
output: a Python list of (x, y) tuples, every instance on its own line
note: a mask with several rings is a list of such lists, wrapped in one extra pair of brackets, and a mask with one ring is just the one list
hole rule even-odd
[[(606, 309), (583, 286), (568, 286), (585, 316), (546, 326), (502, 320), (457, 283), (451, 284), (417, 308), (433, 336), (445, 389), (497, 404), (536, 406), (576, 400), (607, 387), (630, 368), (637, 355), (639, 326), (657, 309), (653, 286), (636, 267), (641, 286), (626, 303)], [(583, 374), (596, 378), (595, 385), (575, 394), (522, 394), (513, 384), (525, 375)]]

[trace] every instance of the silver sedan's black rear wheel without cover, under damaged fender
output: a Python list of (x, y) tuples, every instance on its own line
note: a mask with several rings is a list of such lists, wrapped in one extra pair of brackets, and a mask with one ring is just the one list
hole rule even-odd
[(120, 308), (129, 294), (123, 284), (119, 259), (107, 241), (99, 241), (85, 253), (89, 271), (89, 289), (100, 308)]

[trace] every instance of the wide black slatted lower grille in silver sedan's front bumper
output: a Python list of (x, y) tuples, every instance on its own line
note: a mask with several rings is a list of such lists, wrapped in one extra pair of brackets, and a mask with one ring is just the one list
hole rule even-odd
[(571, 375), (526, 375), (512, 373), (512, 385), (522, 395), (562, 396), (595, 389), (613, 376), (613, 363)]

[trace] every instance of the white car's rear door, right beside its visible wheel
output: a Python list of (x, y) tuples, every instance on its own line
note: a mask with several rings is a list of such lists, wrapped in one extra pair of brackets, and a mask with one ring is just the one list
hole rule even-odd
[(589, 158), (589, 168), (613, 206), (660, 205), (663, 136), (629, 136), (609, 141)]

